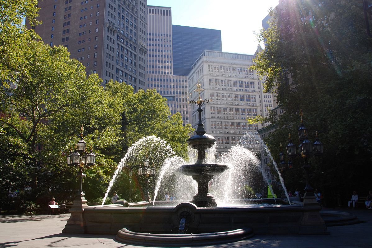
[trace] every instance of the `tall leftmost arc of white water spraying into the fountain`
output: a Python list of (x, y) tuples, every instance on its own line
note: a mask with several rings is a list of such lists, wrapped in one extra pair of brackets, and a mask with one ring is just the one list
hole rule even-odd
[[(155, 149), (158, 145), (160, 145), (162, 148), (161, 150), (163, 150), (161, 154), (155, 153), (155, 150), (159, 150), (159, 149)], [(132, 159), (133, 157), (135, 157), (137, 154), (140, 154), (141, 152), (149, 153), (150, 157), (163, 156), (163, 158), (164, 157), (166, 158), (168, 156), (174, 156), (174, 151), (172, 150), (170, 145), (166, 141), (161, 140), (160, 138), (157, 138), (155, 136), (147, 136), (135, 142), (131, 147), (129, 147), (127, 153), (125, 154), (125, 156), (121, 159), (120, 163), (118, 164), (118, 167), (116, 168), (116, 171), (109, 183), (109, 187), (107, 188), (105, 198), (103, 198), (101, 207), (105, 204), (106, 198), (109, 195), (111, 187), (113, 186), (118, 174), (124, 168), (126, 161), (129, 159)]]

